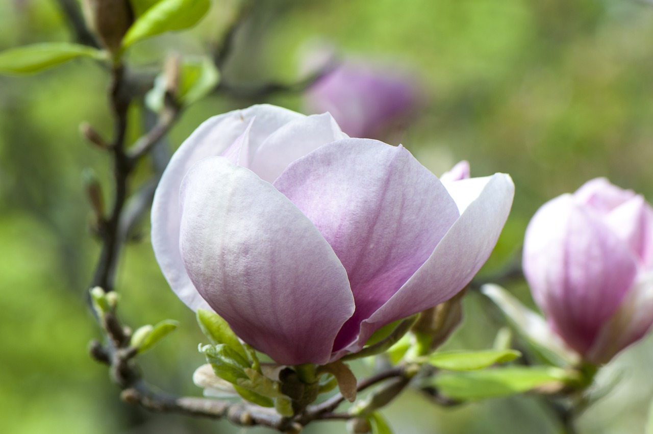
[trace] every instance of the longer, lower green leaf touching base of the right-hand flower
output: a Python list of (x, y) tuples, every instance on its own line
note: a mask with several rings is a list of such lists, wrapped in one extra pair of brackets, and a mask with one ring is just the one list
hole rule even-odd
[(428, 380), (445, 396), (460, 401), (528, 392), (542, 386), (572, 382), (564, 369), (550, 366), (509, 366), (481, 371), (441, 373)]

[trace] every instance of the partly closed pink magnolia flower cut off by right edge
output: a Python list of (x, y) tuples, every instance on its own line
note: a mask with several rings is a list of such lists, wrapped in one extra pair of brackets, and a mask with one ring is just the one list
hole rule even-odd
[(653, 209), (605, 178), (535, 213), (523, 266), (551, 328), (588, 362), (608, 362), (653, 323)]

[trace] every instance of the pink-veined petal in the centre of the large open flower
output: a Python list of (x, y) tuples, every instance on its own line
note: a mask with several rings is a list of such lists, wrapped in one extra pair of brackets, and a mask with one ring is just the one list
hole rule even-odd
[(438, 178), (406, 150), (346, 139), (288, 166), (274, 186), (333, 247), (349, 275), (356, 313), (336, 339), (351, 343), (359, 324), (424, 263), (458, 218)]

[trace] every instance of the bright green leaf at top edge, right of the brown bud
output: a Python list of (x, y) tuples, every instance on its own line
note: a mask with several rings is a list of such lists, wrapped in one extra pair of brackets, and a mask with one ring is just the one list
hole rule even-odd
[(123, 38), (123, 48), (167, 31), (193, 27), (210, 6), (210, 0), (161, 0), (136, 18)]

